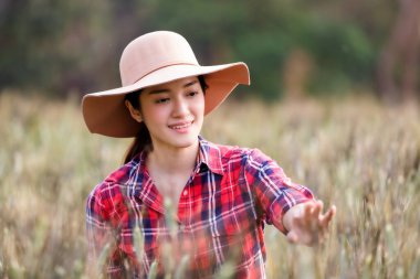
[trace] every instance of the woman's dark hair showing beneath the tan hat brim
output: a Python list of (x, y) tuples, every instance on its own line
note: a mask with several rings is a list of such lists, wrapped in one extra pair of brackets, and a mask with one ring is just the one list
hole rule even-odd
[[(198, 81), (200, 83), (202, 92), (206, 94), (206, 89), (209, 88), (209, 86), (206, 84), (204, 76), (198, 76)], [(137, 90), (137, 92), (128, 93), (125, 96), (125, 100), (128, 100), (135, 109), (141, 109), (140, 108), (140, 100), (139, 100), (140, 94), (141, 94), (141, 89)], [(139, 127), (139, 130), (137, 132), (136, 138), (133, 140), (132, 144), (127, 149), (127, 152), (126, 152), (125, 159), (124, 159), (124, 163), (128, 163), (129, 161), (132, 161), (133, 158), (136, 157), (141, 151), (145, 151), (145, 150), (151, 151), (153, 150), (149, 130), (147, 129), (144, 121), (141, 121), (139, 124), (139, 126), (140, 127)]]

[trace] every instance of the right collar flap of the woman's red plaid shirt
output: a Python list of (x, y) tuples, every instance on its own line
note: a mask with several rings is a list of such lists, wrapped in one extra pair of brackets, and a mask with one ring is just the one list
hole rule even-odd
[(211, 172), (223, 175), (224, 169), (219, 147), (204, 140), (201, 136), (199, 136), (199, 147), (200, 153), (197, 158), (197, 168), (207, 165)]

